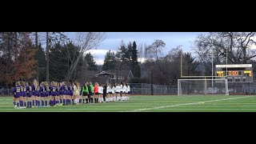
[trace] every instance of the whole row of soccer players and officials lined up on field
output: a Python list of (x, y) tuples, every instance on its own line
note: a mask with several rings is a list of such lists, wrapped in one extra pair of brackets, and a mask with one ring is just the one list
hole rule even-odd
[[(82, 88), (79, 82), (41, 82), (40, 85), (34, 80), (33, 85), (30, 82), (16, 82), (14, 87), (14, 107), (38, 107), (40, 100), (42, 106), (62, 106), (77, 103), (89, 102), (114, 102), (128, 100), (130, 93), (129, 85), (117, 84), (110, 86), (99, 85), (97, 82), (95, 86), (92, 82), (86, 82)], [(49, 97), (48, 97), (49, 96)], [(83, 96), (83, 97), (82, 97)], [(49, 105), (48, 105), (49, 100)], [(27, 106), (26, 106), (27, 104)]]

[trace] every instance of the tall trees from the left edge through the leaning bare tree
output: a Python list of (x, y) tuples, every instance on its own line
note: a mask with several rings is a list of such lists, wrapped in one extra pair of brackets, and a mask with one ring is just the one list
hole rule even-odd
[(104, 38), (105, 33), (78, 33), (70, 42), (63, 32), (1, 32), (0, 85), (34, 78), (39, 82), (76, 79), (83, 67), (97, 69), (92, 55), (84, 53)]

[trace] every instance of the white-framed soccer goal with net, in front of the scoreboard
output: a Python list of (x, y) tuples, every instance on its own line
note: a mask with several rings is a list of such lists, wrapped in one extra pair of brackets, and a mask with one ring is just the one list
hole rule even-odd
[(178, 79), (178, 95), (229, 95), (227, 79)]

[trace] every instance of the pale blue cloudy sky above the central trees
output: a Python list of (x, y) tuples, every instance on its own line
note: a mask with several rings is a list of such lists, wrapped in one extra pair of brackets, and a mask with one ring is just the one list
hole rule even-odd
[[(66, 33), (71, 39), (75, 38), (75, 33)], [(108, 50), (118, 50), (121, 41), (125, 43), (136, 42), (137, 46), (140, 44), (150, 45), (154, 39), (162, 39), (166, 42), (166, 49), (168, 52), (175, 46), (182, 45), (185, 51), (190, 51), (192, 42), (201, 32), (108, 32), (106, 39), (95, 50), (90, 50), (94, 55), (94, 60), (97, 64), (103, 64), (105, 54)]]

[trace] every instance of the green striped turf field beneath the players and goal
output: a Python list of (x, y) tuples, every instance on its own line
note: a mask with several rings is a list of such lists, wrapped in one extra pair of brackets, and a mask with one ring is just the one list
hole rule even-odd
[(126, 102), (30, 109), (14, 109), (12, 97), (0, 97), (0, 112), (256, 112), (256, 96), (131, 96)]

